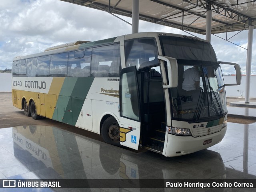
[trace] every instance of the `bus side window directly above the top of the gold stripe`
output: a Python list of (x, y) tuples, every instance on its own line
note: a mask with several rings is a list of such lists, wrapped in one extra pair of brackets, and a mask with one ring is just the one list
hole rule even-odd
[(68, 52), (52, 55), (51, 62), (50, 62), (50, 76), (66, 77), (67, 66), (68, 66)]

